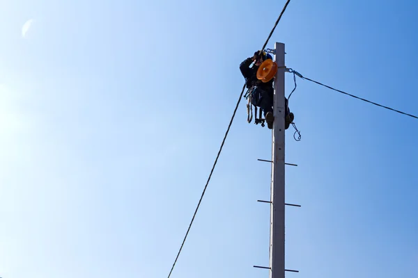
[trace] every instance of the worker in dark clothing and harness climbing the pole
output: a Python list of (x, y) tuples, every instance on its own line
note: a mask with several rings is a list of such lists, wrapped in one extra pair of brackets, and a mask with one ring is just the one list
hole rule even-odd
[[(242, 63), (240, 64), (240, 71), (242, 73), (242, 76), (244, 76), (245, 78), (245, 85), (247, 89), (249, 89), (249, 94), (251, 95), (251, 104), (261, 108), (264, 114), (265, 122), (267, 122), (268, 128), (272, 129), (274, 121), (274, 79), (271, 79), (270, 81), (265, 83), (257, 79), (258, 67), (260, 67), (261, 63), (268, 59), (273, 59), (270, 54), (266, 54), (264, 51), (263, 53), (260, 53), (260, 51), (256, 51), (254, 53), (254, 56), (242, 61)], [(250, 67), (252, 63), (254, 63), (254, 65)], [(288, 108), (288, 99), (285, 99), (285, 104), (285, 128), (288, 129), (288, 127), (294, 120), (294, 115)]]

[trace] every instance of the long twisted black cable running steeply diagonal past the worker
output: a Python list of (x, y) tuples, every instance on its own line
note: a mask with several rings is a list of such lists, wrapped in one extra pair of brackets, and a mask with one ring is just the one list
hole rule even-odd
[[(261, 49), (261, 52), (263, 52), (263, 50), (265, 49), (265, 46), (268, 44), (268, 41), (270, 40), (270, 38), (271, 38), (271, 36), (272, 36), (272, 34), (273, 34), (273, 32), (274, 32), (274, 29), (276, 28), (277, 24), (279, 24), (279, 21), (280, 21), (280, 19), (281, 19), (281, 16), (284, 14), (284, 11), (286, 10), (286, 8), (287, 8), (287, 6), (288, 6), (288, 3), (289, 3), (290, 1), (291, 1), (291, 0), (288, 0), (288, 1), (286, 2), (286, 4), (285, 4), (284, 8), (281, 10), (281, 13), (280, 13), (280, 15), (279, 15), (279, 18), (277, 19), (276, 23), (274, 24), (274, 27), (272, 28), (272, 31), (270, 31), (270, 34), (268, 35), (268, 38), (267, 38), (267, 40), (265, 41), (265, 43), (264, 43), (264, 45), (263, 45), (263, 48)], [(232, 114), (232, 117), (231, 117), (231, 121), (229, 122), (228, 129), (226, 129), (226, 133), (225, 133), (225, 136), (224, 136), (224, 140), (222, 140), (222, 144), (221, 144), (221, 147), (219, 148), (219, 152), (218, 152), (218, 154), (217, 154), (217, 156), (216, 156), (215, 163), (213, 163), (212, 170), (210, 170), (210, 174), (209, 174), (209, 177), (208, 177), (208, 181), (206, 181), (205, 188), (203, 189), (203, 193), (202, 193), (202, 195), (201, 195), (201, 198), (199, 199), (199, 203), (198, 203), (198, 204), (197, 204), (197, 206), (196, 206), (196, 210), (194, 211), (192, 221), (191, 221), (191, 222), (190, 222), (190, 224), (189, 224), (189, 228), (187, 229), (187, 232), (186, 232), (185, 238), (183, 239), (183, 243), (182, 243), (182, 244), (181, 244), (181, 246), (180, 246), (180, 250), (178, 250), (178, 254), (177, 254), (177, 256), (176, 256), (176, 260), (174, 261), (173, 266), (171, 267), (171, 270), (170, 270), (170, 273), (169, 273), (168, 278), (170, 277), (171, 272), (173, 272), (173, 269), (174, 269), (174, 266), (176, 265), (176, 262), (177, 262), (178, 256), (180, 256), (180, 252), (181, 252), (181, 250), (183, 249), (183, 245), (185, 244), (185, 241), (186, 241), (187, 235), (189, 234), (190, 228), (192, 227), (192, 224), (193, 224), (193, 221), (194, 221), (194, 217), (196, 216), (196, 213), (197, 213), (197, 211), (199, 210), (199, 206), (200, 206), (201, 201), (202, 201), (202, 199), (203, 199), (203, 195), (205, 195), (206, 188), (208, 188), (208, 184), (209, 184), (210, 178), (212, 177), (213, 170), (215, 170), (215, 166), (216, 166), (216, 163), (217, 163), (217, 161), (218, 161), (219, 155), (221, 154), (221, 152), (222, 152), (222, 148), (224, 147), (224, 143), (225, 143), (225, 140), (226, 140), (226, 136), (228, 136), (229, 129), (231, 129), (231, 125), (232, 125), (233, 119), (234, 119), (234, 117), (235, 117), (235, 113), (237, 112), (238, 106), (240, 105), (240, 101), (241, 101), (241, 99), (242, 99), (242, 95), (244, 95), (244, 91), (245, 91), (245, 84), (244, 84), (244, 86), (242, 86), (242, 91), (241, 91), (240, 97), (238, 98), (238, 102), (237, 102), (237, 104), (236, 104), (236, 106), (235, 106), (235, 109), (234, 109), (234, 111), (233, 111), (233, 114)]]

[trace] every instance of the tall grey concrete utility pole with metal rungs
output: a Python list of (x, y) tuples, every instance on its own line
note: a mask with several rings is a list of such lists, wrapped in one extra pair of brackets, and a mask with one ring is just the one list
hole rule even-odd
[(272, 183), (270, 195), (270, 278), (284, 278), (284, 44), (274, 45), (274, 126), (272, 130)]

